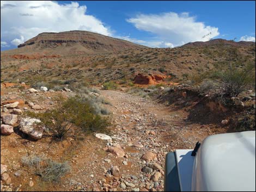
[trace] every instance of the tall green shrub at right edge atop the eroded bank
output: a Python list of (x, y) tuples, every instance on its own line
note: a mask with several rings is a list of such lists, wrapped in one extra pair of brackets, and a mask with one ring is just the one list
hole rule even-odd
[(249, 85), (255, 84), (255, 65), (249, 64), (246, 69), (237, 69), (230, 64), (227, 70), (215, 72), (212, 78), (221, 84), (224, 95), (234, 97)]

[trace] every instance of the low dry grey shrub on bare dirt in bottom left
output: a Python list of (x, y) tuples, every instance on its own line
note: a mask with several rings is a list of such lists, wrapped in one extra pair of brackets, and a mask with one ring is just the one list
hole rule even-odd
[(61, 177), (70, 171), (68, 162), (59, 163), (52, 159), (39, 156), (24, 156), (21, 162), (25, 166), (29, 166), (34, 174), (39, 175), (43, 181), (58, 182)]

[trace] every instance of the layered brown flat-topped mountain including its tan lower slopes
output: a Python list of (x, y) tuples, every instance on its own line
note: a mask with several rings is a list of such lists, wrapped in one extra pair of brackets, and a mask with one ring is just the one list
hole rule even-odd
[(17, 49), (9, 50), (5, 53), (13, 52), (17, 54), (44, 51), (55, 54), (107, 53), (138, 48), (145, 48), (145, 46), (97, 33), (72, 30), (60, 33), (40, 33), (20, 44)]

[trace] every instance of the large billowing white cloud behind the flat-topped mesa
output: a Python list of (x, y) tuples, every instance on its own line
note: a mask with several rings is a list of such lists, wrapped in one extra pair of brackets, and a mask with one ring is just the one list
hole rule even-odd
[(42, 32), (88, 30), (111, 36), (111, 30), (77, 2), (1, 1), (1, 40), (19, 45)]

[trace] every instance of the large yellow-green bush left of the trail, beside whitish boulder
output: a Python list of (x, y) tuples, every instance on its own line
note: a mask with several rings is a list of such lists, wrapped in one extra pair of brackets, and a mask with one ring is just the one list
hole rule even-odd
[[(103, 112), (107, 113), (107, 112)], [(76, 128), (76, 133), (92, 133), (104, 131), (109, 125), (108, 117), (102, 117), (94, 108), (92, 102), (81, 96), (74, 96), (68, 100), (59, 100), (56, 108), (45, 113), (32, 113), (26, 115), (38, 118), (57, 140), (64, 139)]]

